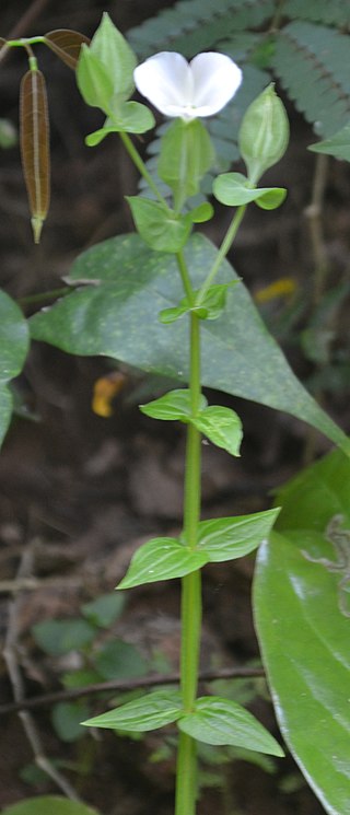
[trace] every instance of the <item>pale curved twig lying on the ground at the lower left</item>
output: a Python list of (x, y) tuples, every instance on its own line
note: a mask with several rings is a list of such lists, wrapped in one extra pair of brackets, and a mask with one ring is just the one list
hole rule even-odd
[[(28, 546), (23, 554), (16, 579), (14, 582), (23, 583), (23, 581), (26, 581), (30, 579), (30, 574), (32, 571), (32, 564), (33, 564), (33, 546)], [(15, 706), (16, 710), (19, 711), (19, 717), (21, 719), (23, 730), (25, 732), (25, 735), (30, 742), (30, 745), (32, 747), (33, 754), (34, 754), (34, 760), (37, 767), (39, 767), (42, 770), (44, 770), (47, 776), (57, 784), (57, 787), (61, 790), (61, 792), (67, 795), (67, 797), (71, 799), (72, 801), (80, 801), (79, 795), (77, 794), (75, 790), (71, 787), (69, 781), (62, 776), (59, 770), (57, 770), (56, 767), (52, 766), (51, 761), (47, 756), (45, 755), (43, 744), (40, 736), (38, 734), (37, 727), (35, 725), (34, 719), (32, 714), (25, 710), (25, 706), (23, 707), (23, 699), (24, 699), (24, 684), (23, 684), (23, 677), (20, 671), (19, 662), (18, 662), (18, 634), (19, 634), (19, 627), (18, 627), (18, 618), (19, 618), (19, 606), (20, 606), (21, 599), (19, 597), (13, 597), (13, 599), (9, 604), (9, 625), (5, 636), (5, 644), (3, 649), (3, 656), (4, 661), (8, 667), (10, 682), (13, 689), (13, 696), (15, 699)]]

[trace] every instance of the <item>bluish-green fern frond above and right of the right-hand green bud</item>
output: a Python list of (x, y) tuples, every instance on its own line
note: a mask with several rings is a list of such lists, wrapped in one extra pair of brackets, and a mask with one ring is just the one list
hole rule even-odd
[(288, 95), (317, 135), (327, 137), (350, 119), (350, 38), (312, 23), (279, 32), (272, 66)]

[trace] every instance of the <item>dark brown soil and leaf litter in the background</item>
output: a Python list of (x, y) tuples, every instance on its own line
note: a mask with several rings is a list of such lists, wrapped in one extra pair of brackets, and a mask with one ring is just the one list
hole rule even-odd
[[(8, 36), (18, 23), (21, 27), (23, 15), (31, 12), (19, 35), (59, 27), (91, 35), (103, 10), (126, 32), (172, 4), (158, 0), (8, 2), (0, 11), (0, 34)], [(54, 55), (43, 53), (42, 60), (49, 78), (52, 201), (39, 246), (32, 243), (19, 148), (0, 154), (1, 286), (16, 299), (60, 287), (80, 252), (132, 229), (122, 196), (136, 189), (136, 179), (118, 142), (106, 140), (96, 150), (84, 147), (84, 135), (98, 124), (97, 114), (84, 106), (73, 74)], [(1, 116), (14, 123), (23, 70), (20, 54), (11, 55), (1, 66)], [(314, 139), (301, 118), (291, 114), (291, 148), (278, 177), (279, 185), (290, 188), (289, 201), (277, 220), (272, 218), (270, 231), (261, 225), (258, 212), (248, 216), (234, 264), (253, 292), (291, 277), (310, 302), (311, 283), (305, 284), (305, 278), (312, 277), (313, 253), (305, 213), (314, 158), (305, 148)], [(341, 280), (348, 269), (350, 210), (345, 175), (343, 165), (341, 171), (336, 163), (330, 165), (323, 240), (335, 280)], [(222, 219), (211, 226), (213, 240), (222, 233)], [(279, 301), (266, 308), (265, 316), (272, 324), (279, 308)], [(296, 328), (304, 328), (306, 319), (307, 310)], [(347, 312), (340, 321), (347, 325)], [(284, 350), (298, 374), (308, 382), (314, 366), (302, 353), (296, 328), (287, 337)], [(13, 420), (0, 457), (1, 581), (5, 586), (5, 581), (19, 581), (24, 573), (35, 583), (14, 594), (14, 599), (10, 596), (10, 602), (9, 594), (2, 595), (1, 628), (5, 638), (9, 626), (14, 625), (25, 698), (38, 699), (61, 689), (62, 673), (74, 666), (45, 655), (34, 641), (32, 626), (79, 615), (82, 603), (114, 590), (140, 543), (180, 529), (183, 429), (166, 422), (159, 426), (140, 415), (140, 395), (152, 395), (154, 385), (141, 373), (116, 364), (114, 370), (121, 372), (124, 386), (108, 418), (92, 409), (94, 384), (110, 373), (108, 360), (73, 358), (35, 344), (16, 383), (32, 420)], [(298, 471), (311, 454), (320, 455), (328, 449), (324, 439), (290, 417), (222, 394), (209, 396), (237, 409), (245, 438), (240, 459), (203, 446), (203, 517), (266, 509), (272, 489)], [(325, 407), (349, 432), (348, 396), (345, 388), (323, 392)], [(230, 568), (217, 564), (205, 569), (202, 671), (259, 664), (250, 610), (253, 571), (253, 558), (235, 561)], [(158, 664), (161, 673), (176, 671), (178, 606), (177, 581), (133, 590), (108, 636), (131, 643), (151, 670)], [(79, 655), (74, 659), (78, 664)], [(3, 703), (11, 702), (14, 688), (5, 663), (0, 668), (0, 687)], [(212, 686), (203, 683), (202, 687), (210, 692)], [(229, 692), (232, 688), (229, 683)], [(246, 679), (243, 685), (241, 680), (237, 688), (277, 735), (264, 679)], [(115, 692), (113, 698), (117, 698)], [(109, 701), (92, 695), (91, 712), (100, 712)], [(100, 731), (70, 743), (55, 732), (50, 705), (38, 706), (31, 715), (46, 755), (58, 762), (86, 803), (104, 815), (171, 815), (172, 729), (165, 731), (167, 752), (155, 761), (164, 743), (163, 731), (139, 741)], [(33, 748), (15, 712), (2, 715), (1, 741), (7, 759), (0, 781), (1, 806), (35, 794), (57, 793), (57, 787), (44, 775), (28, 775)], [(218, 767), (206, 755), (201, 781), (199, 815), (213, 811), (218, 815), (323, 812), (290, 756), (276, 761), (269, 772), (241, 757), (226, 761), (224, 754)]]

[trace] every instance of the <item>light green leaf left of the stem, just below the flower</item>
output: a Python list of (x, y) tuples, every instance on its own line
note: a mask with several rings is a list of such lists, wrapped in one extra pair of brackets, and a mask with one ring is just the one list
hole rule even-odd
[(192, 222), (190, 216), (175, 216), (162, 203), (140, 196), (126, 196), (143, 241), (155, 252), (176, 253), (185, 246)]

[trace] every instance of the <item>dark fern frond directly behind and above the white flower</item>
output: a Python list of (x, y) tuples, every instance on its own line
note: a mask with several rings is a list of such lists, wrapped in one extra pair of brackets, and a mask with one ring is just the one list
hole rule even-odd
[(137, 28), (128, 40), (144, 58), (158, 50), (177, 50), (194, 57), (231, 34), (258, 28), (273, 14), (273, 0), (179, 0)]

